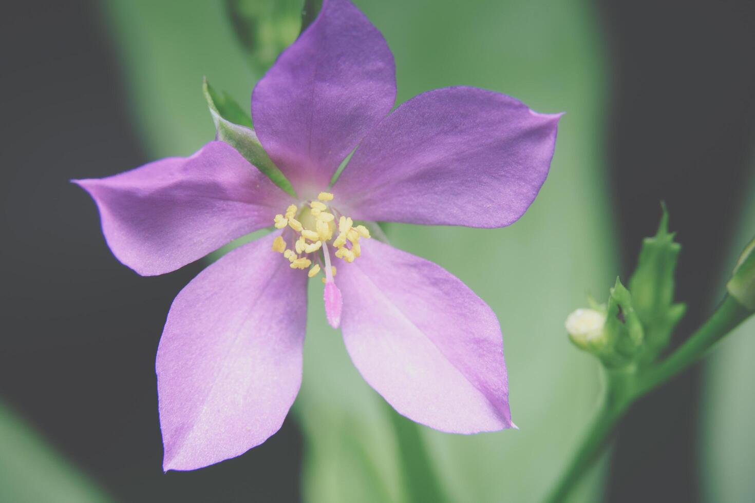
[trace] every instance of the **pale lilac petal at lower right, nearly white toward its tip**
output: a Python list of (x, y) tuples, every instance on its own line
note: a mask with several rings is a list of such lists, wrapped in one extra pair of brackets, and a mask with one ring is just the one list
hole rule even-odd
[(458, 278), (371, 240), (337, 282), (347, 351), (399, 413), (452, 433), (512, 426), (498, 319)]

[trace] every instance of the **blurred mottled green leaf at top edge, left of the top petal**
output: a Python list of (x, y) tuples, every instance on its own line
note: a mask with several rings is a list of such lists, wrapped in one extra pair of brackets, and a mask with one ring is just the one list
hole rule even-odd
[(261, 75), (312, 23), (322, 0), (225, 0), (225, 4), (249, 64)]

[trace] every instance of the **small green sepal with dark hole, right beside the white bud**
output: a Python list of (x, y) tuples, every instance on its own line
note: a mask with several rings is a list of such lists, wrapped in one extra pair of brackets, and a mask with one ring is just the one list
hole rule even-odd
[(602, 351), (601, 357), (605, 359), (606, 356), (610, 356), (609, 362), (606, 363), (633, 360), (642, 351), (645, 339), (643, 324), (635, 311), (632, 295), (621, 284), (619, 278), (616, 278), (616, 284), (609, 296), (603, 335), (606, 339), (606, 350)]

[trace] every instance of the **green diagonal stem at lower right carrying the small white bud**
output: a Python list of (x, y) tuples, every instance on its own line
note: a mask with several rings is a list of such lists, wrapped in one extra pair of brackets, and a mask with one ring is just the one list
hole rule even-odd
[(727, 295), (713, 315), (661, 363), (647, 369), (609, 373), (606, 391), (593, 424), (587, 430), (587, 436), (584, 437), (572, 462), (545, 501), (558, 503), (565, 500), (587, 469), (592, 466), (608, 443), (614, 426), (635, 400), (695, 363), (712, 345), (723, 339), (750, 314), (753, 312)]

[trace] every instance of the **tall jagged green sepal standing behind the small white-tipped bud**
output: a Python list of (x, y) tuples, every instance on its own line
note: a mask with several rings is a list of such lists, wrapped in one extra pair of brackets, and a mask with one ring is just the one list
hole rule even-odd
[(663, 214), (658, 232), (643, 240), (637, 268), (629, 281), (634, 309), (645, 327), (646, 348), (640, 363), (655, 360), (670, 342), (673, 330), (686, 312), (683, 304), (674, 304), (674, 273), (681, 245), (668, 232), (668, 211)]

